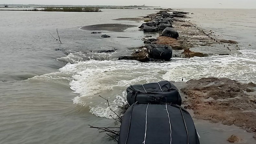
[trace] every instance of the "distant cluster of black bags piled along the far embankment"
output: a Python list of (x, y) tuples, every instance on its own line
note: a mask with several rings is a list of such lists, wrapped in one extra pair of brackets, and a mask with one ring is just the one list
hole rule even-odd
[(172, 27), (172, 16), (168, 12), (160, 12), (150, 22), (142, 24), (139, 28), (145, 32), (162, 31), (162, 36), (179, 38), (179, 33)]

